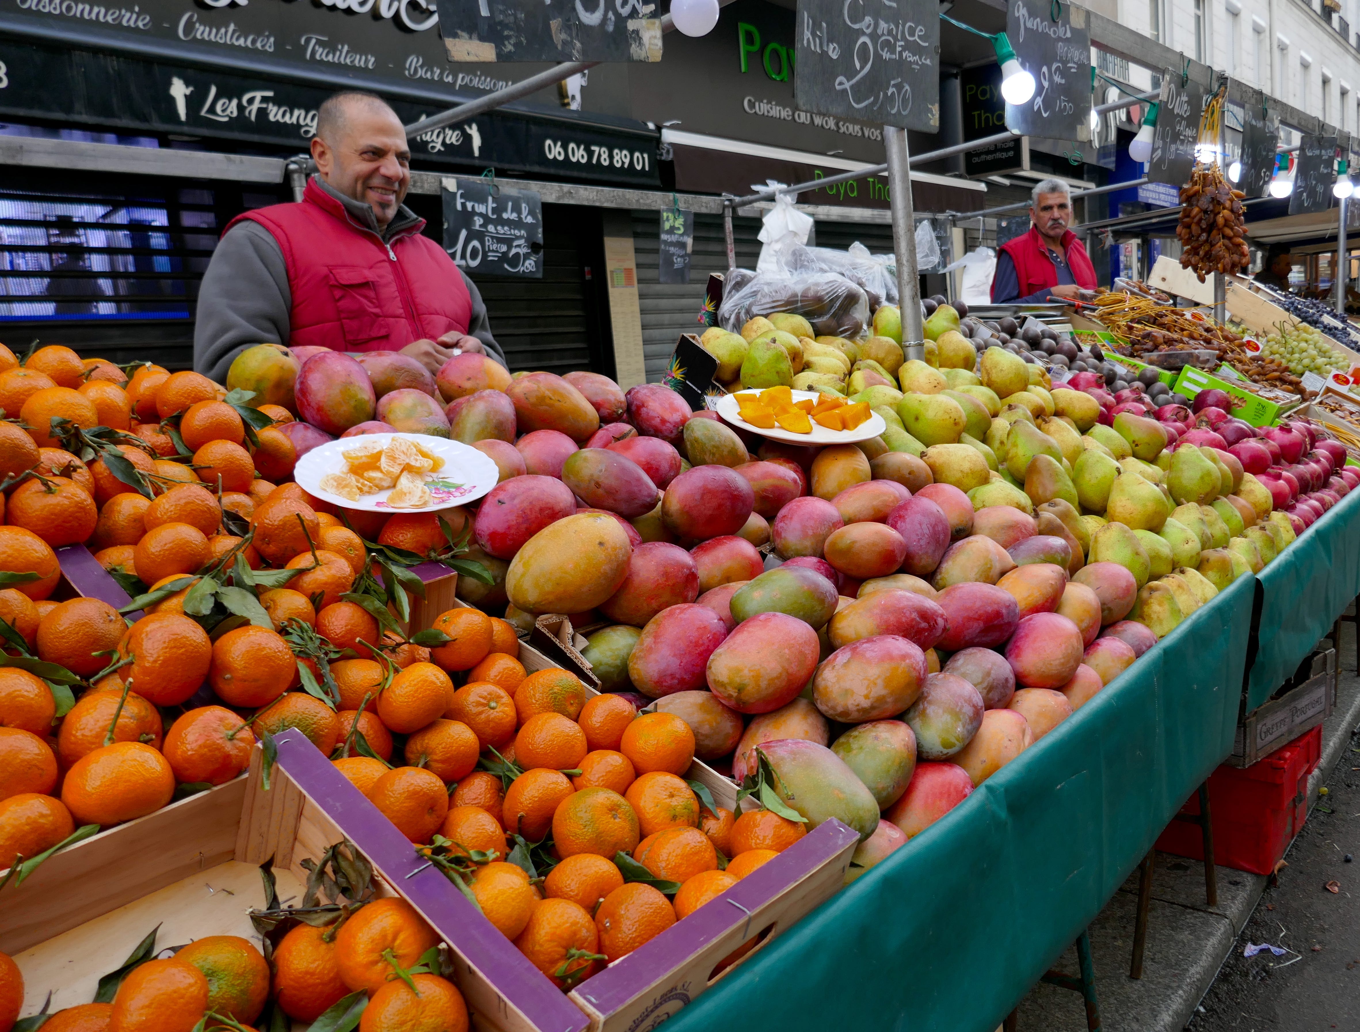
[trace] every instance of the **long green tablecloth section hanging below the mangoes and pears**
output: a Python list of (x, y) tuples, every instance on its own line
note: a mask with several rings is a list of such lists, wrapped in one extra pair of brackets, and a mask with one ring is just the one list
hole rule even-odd
[(993, 1032), (1232, 749), (1254, 586), (1194, 613), (668, 1032)]

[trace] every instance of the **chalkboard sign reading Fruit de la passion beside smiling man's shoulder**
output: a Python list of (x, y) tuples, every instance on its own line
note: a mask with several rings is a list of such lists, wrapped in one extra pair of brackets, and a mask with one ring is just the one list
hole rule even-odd
[(481, 178), (445, 178), (443, 249), (468, 275), (543, 279), (543, 201)]

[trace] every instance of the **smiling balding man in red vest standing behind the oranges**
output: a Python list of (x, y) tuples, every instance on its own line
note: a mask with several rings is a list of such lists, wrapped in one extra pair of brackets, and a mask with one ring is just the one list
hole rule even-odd
[(302, 201), (237, 216), (199, 292), (194, 368), (223, 382), (253, 344), (397, 351), (431, 374), (460, 351), (505, 355), (481, 295), (401, 201), (411, 150), (373, 94), (325, 101)]

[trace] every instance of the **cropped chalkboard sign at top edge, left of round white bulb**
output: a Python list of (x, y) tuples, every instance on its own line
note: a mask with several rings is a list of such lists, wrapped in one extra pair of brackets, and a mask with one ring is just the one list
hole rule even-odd
[(661, 60), (657, 0), (452, 0), (439, 33), (450, 61)]

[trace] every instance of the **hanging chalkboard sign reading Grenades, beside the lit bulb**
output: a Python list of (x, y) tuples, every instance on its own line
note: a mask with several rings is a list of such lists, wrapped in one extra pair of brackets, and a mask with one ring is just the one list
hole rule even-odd
[[(1053, 10), (1062, 14), (1053, 19)], [(1006, 37), (1034, 76), (1034, 97), (1006, 105), (1006, 126), (1024, 136), (1091, 140), (1091, 30), (1087, 12), (1050, 0), (1012, 0)]]

